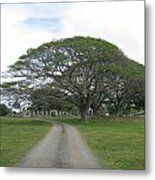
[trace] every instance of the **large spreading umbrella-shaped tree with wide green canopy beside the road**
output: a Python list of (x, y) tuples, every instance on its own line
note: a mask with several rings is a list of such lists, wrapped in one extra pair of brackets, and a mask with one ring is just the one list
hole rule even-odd
[[(76, 106), (85, 120), (89, 107), (97, 111), (105, 99), (120, 108), (118, 101), (124, 98), (131, 75), (124, 72), (130, 66), (131, 60), (117, 46), (101, 39), (74, 37), (29, 49), (10, 66), (9, 74), (31, 88), (46, 85), (51, 92), (58, 91), (60, 99), (65, 97)], [(135, 71), (143, 71), (137, 63), (134, 66), (138, 67)]]

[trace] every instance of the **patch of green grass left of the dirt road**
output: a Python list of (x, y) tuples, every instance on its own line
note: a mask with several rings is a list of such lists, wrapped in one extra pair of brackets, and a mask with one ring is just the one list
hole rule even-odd
[(14, 166), (51, 127), (32, 118), (1, 118), (0, 166)]

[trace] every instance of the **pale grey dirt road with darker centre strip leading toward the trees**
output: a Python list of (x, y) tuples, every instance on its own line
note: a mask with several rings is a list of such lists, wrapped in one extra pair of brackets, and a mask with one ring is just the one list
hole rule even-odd
[(99, 168), (79, 132), (70, 125), (57, 124), (20, 163), (21, 167)]

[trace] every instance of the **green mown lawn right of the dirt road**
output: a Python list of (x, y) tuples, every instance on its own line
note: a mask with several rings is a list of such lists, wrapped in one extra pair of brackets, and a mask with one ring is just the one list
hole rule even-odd
[(144, 118), (93, 119), (77, 125), (105, 169), (145, 169)]

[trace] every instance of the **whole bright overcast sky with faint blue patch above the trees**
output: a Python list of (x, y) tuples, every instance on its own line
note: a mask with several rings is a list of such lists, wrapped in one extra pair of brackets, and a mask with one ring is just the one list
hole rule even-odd
[(1, 70), (28, 48), (77, 35), (110, 41), (144, 64), (144, 2), (2, 4)]

